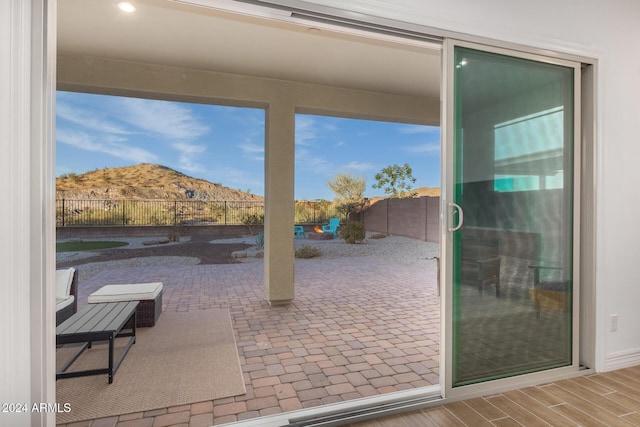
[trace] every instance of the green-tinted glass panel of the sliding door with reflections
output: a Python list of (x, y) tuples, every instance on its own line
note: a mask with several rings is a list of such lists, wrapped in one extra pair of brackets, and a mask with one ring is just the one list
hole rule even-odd
[(455, 63), (454, 387), (572, 363), (574, 188), (574, 69)]

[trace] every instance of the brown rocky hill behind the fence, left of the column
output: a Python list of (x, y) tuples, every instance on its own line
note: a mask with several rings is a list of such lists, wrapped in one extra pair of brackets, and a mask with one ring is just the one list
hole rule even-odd
[(261, 201), (263, 197), (193, 178), (166, 166), (104, 168), (56, 178), (58, 199)]

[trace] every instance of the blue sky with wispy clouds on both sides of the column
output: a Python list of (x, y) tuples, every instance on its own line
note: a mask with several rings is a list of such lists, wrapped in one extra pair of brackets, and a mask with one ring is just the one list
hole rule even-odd
[[(184, 174), (264, 195), (261, 109), (58, 92), (56, 175), (157, 163)], [(414, 187), (440, 183), (440, 130), (335, 117), (297, 115), (297, 200), (334, 195), (337, 173), (366, 179), (391, 164), (408, 163)]]

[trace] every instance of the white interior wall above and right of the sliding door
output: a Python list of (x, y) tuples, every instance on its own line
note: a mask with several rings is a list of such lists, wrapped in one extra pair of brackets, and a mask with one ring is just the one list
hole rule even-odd
[[(285, 0), (286, 1), (286, 0)], [(368, 15), (596, 58), (598, 370), (640, 363), (640, 2), (312, 0)], [(609, 330), (609, 316), (619, 316)]]

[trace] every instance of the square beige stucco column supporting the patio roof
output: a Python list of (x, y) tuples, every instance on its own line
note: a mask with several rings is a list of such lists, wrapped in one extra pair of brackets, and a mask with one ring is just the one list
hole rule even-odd
[(272, 103), (265, 142), (264, 291), (271, 305), (291, 302), (294, 279), (295, 108)]

